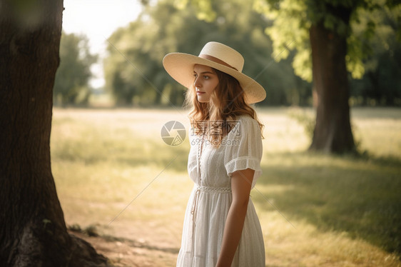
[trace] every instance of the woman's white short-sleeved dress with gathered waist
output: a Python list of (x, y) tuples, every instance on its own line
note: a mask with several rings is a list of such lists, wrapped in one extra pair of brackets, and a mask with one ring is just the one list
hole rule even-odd
[[(255, 170), (254, 187), (262, 173), (262, 141), (258, 123), (250, 116), (238, 116), (237, 121), (218, 148), (205, 140), (200, 154), (202, 137), (190, 133), (188, 173), (195, 185), (186, 208), (177, 266), (215, 267), (233, 199), (230, 174), (246, 168)], [(251, 199), (231, 266), (265, 266), (263, 234)]]

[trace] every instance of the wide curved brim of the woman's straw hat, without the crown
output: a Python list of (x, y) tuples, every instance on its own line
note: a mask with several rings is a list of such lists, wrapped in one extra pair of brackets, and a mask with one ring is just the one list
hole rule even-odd
[(167, 73), (188, 89), (193, 85), (193, 66), (196, 64), (210, 66), (237, 79), (244, 91), (245, 102), (248, 104), (263, 101), (266, 97), (265, 89), (257, 81), (228, 66), (185, 53), (167, 54), (163, 59), (163, 66)]

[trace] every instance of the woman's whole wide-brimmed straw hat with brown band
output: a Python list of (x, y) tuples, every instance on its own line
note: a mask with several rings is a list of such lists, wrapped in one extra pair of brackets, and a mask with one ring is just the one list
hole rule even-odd
[(266, 91), (263, 86), (242, 73), (243, 56), (225, 44), (210, 41), (203, 46), (199, 56), (171, 53), (167, 54), (163, 59), (164, 69), (173, 79), (186, 86), (186, 88), (193, 86), (193, 66), (195, 64), (210, 66), (237, 79), (243, 88), (245, 101), (248, 104), (263, 101), (266, 97)]

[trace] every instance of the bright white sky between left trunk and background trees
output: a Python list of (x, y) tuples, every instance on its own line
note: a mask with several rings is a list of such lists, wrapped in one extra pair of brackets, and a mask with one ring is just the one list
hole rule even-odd
[(98, 64), (91, 70), (93, 88), (104, 85), (103, 57), (106, 55), (106, 39), (118, 29), (136, 19), (141, 12), (139, 0), (64, 0), (63, 30), (67, 34), (85, 34), (91, 53), (98, 54)]

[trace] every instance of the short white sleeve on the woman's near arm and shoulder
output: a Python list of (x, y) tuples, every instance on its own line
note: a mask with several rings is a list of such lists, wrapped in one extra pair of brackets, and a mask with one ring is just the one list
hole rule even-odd
[[(262, 174), (260, 160), (262, 159), (262, 136), (257, 121), (250, 116), (240, 116), (235, 127), (226, 136), (224, 166), (227, 175), (235, 171), (253, 169), (253, 186)], [(222, 142), (223, 143), (223, 142)]]

